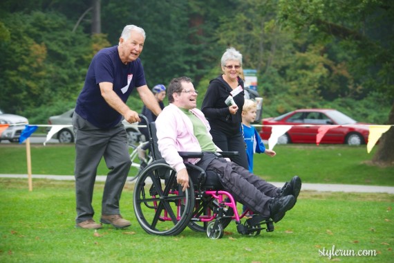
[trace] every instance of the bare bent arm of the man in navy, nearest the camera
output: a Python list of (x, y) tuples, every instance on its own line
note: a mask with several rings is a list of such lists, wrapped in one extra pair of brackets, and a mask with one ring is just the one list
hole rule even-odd
[[(140, 121), (140, 117), (138, 117), (138, 112), (133, 111), (127, 106), (119, 96), (113, 91), (113, 84), (111, 82), (100, 82), (100, 91), (101, 96), (104, 100), (109, 104), (109, 106), (113, 107), (115, 111), (118, 111), (124, 119), (128, 123), (135, 123)], [(154, 99), (154, 97), (153, 97)]]

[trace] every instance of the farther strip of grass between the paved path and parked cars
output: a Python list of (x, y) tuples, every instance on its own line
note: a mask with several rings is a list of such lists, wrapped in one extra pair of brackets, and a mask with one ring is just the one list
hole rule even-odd
[[(365, 145), (276, 145), (274, 150), (274, 158), (254, 155), (254, 172), (268, 181), (297, 174), (304, 183), (394, 185), (393, 167), (368, 165), (375, 152), (368, 154)], [(31, 160), (32, 174), (72, 175), (74, 145), (32, 145)], [(97, 174), (107, 172), (102, 161)], [(0, 174), (27, 174), (25, 145), (0, 145)]]

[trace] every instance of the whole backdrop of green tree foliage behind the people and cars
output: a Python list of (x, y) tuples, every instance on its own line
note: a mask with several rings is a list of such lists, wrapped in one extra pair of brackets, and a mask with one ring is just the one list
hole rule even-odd
[[(391, 1), (101, 0), (102, 34), (91, 34), (92, 3), (1, 1), (3, 110), (43, 123), (73, 107), (93, 55), (136, 24), (147, 33), (141, 59), (149, 87), (187, 75), (200, 102), (234, 46), (244, 68), (258, 72), (263, 116), (300, 107), (335, 107), (380, 124), (388, 116)], [(142, 107), (136, 94), (129, 105)], [(371, 113), (374, 105), (382, 110)]]

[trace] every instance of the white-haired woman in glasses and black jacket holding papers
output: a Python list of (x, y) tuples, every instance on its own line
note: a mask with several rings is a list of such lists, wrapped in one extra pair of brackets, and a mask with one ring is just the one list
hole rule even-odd
[(232, 161), (248, 168), (242, 135), (242, 107), (245, 101), (242, 55), (235, 48), (227, 48), (221, 58), (223, 73), (209, 82), (201, 110), (209, 121), (214, 143), (223, 152), (238, 152)]

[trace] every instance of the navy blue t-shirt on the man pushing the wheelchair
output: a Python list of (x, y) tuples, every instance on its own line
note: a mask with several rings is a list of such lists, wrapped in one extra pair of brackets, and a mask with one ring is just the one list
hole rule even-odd
[(103, 48), (93, 57), (86, 73), (84, 88), (77, 98), (75, 112), (95, 127), (108, 129), (120, 123), (122, 115), (102, 97), (100, 82), (111, 82), (113, 91), (123, 102), (126, 102), (135, 87), (141, 87), (147, 82), (140, 59), (123, 64), (118, 46)]

